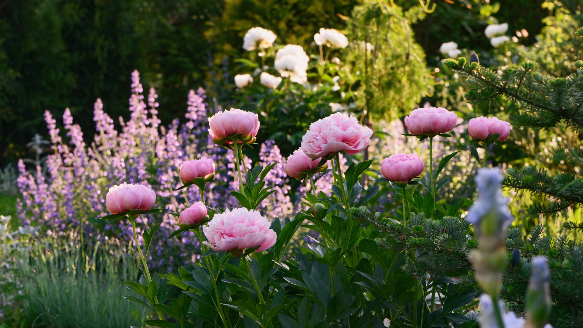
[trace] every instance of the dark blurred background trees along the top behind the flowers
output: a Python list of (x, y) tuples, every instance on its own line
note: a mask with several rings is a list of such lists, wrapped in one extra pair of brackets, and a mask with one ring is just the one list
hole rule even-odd
[[(402, 6), (403, 11), (420, 5), (418, 0), (385, 2)], [(433, 12), (410, 23), (429, 67), (440, 65), (438, 48), (452, 40), (460, 49), (481, 54), (482, 63), (486, 64), (491, 50), (483, 34), (487, 23), (507, 22), (509, 33), (527, 29), (529, 36), (521, 39), (521, 43), (529, 46), (549, 14), (551, 5), (542, 8), (542, 2), (436, 0), (429, 4), (436, 4)], [(360, 3), (359, 0), (3, 1), (0, 167), (15, 163), (17, 158), (33, 156), (26, 144), (36, 133), (47, 135), (44, 110), (60, 116), (69, 107), (73, 116), (78, 117), (86, 141), (90, 141), (94, 132), (93, 102), (101, 97), (105, 110), (118, 124), (118, 116), (128, 115), (129, 76), (134, 69), (142, 73), (145, 87), (157, 88), (158, 101), (164, 109), (159, 113), (163, 124), (184, 114), (188, 90), (198, 86), (205, 86), (211, 92), (210, 99), (213, 96), (217, 99), (216, 104), (228, 104), (225, 99), (229, 90), (224, 86), (232, 85), (234, 74), (241, 69), (233, 60), (250, 55), (241, 48), (241, 39), (250, 27), (273, 30), (278, 35), (276, 44), (301, 44), (307, 48), (313, 44), (313, 34), (320, 27), (346, 29), (343, 18), (349, 17)], [(567, 6), (549, 4), (554, 6), (552, 12), (559, 12), (563, 7), (576, 9), (578, 2), (571, 1)], [(561, 32), (567, 29), (564, 25), (577, 25), (564, 22), (563, 16), (556, 17), (546, 22), (553, 21), (544, 32), (549, 39), (564, 33)], [(568, 47), (563, 44), (568, 41), (556, 42)], [(549, 43), (548, 47), (556, 46)], [(436, 98), (426, 96), (422, 103), (435, 103)]]

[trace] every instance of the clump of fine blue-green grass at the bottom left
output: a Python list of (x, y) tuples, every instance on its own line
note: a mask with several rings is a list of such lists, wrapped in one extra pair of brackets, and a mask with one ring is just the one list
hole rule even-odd
[(51, 328), (142, 326), (143, 306), (122, 281), (136, 281), (138, 263), (120, 242), (85, 250), (71, 239), (38, 242), (30, 253), (28, 325)]

